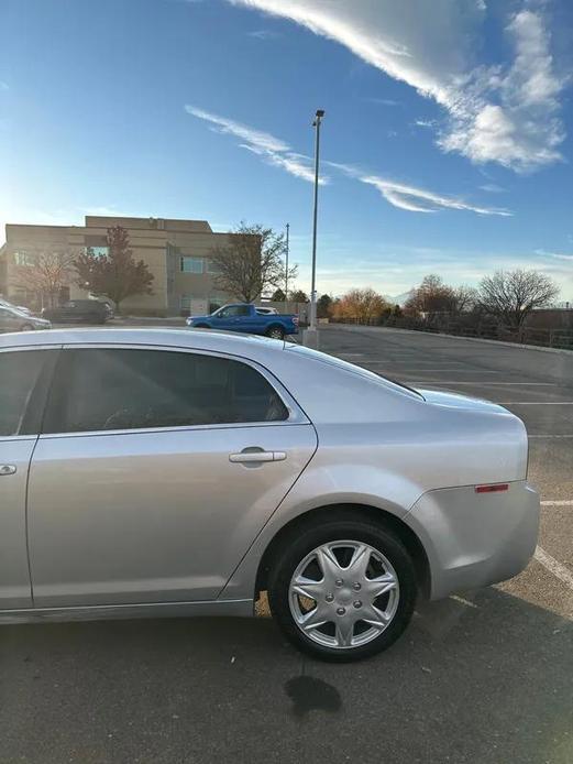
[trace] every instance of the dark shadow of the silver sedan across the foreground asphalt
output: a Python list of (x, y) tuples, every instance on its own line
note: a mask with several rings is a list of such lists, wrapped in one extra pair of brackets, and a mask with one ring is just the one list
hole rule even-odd
[(0, 629), (0, 761), (573, 761), (573, 624), (497, 588), (386, 653), (302, 657), (268, 618)]

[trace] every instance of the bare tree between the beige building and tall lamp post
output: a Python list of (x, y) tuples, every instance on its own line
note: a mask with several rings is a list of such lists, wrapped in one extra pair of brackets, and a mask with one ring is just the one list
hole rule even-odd
[[(231, 231), (227, 247), (218, 247), (209, 257), (219, 271), (217, 286), (245, 303), (252, 303), (268, 287), (285, 284), (286, 242), (283, 233), (261, 225), (245, 222)], [(288, 269), (288, 280), (296, 279), (298, 266)]]

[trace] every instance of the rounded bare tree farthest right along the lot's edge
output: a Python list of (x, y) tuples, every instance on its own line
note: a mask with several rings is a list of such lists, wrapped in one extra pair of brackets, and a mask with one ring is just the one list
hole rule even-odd
[(514, 329), (521, 329), (533, 308), (550, 305), (559, 295), (552, 279), (540, 271), (496, 271), (480, 284), (480, 304)]

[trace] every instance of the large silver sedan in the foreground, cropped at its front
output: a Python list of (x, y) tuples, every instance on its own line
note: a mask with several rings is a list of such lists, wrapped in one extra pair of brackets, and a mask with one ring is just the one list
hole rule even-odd
[(493, 403), (174, 329), (5, 335), (0, 379), (0, 620), (249, 615), (267, 591), (297, 647), (351, 661), (536, 546), (526, 429)]

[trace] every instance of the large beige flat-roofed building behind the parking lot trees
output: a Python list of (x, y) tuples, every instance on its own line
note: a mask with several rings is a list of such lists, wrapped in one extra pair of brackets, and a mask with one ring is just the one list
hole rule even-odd
[[(22, 280), (22, 269), (34, 262), (38, 252), (80, 252), (90, 247), (103, 252), (108, 228), (121, 226), (128, 231), (135, 260), (143, 260), (154, 281), (152, 295), (128, 297), (122, 313), (133, 315), (202, 314), (232, 299), (214, 283), (214, 263), (209, 257), (216, 247), (227, 247), (232, 233), (214, 233), (206, 220), (169, 220), (163, 218), (123, 218), (89, 215), (85, 226), (5, 227), (5, 244), (0, 249), (0, 294), (18, 304), (40, 307)], [(16, 280), (16, 273), (18, 280)], [(75, 284), (63, 291), (67, 297), (86, 297)]]

